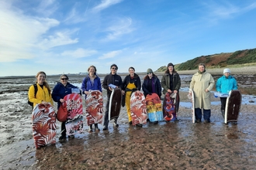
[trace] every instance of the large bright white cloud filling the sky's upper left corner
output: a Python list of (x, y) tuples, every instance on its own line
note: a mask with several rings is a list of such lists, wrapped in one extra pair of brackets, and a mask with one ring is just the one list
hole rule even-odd
[(59, 24), (56, 19), (24, 15), (4, 2), (0, 2), (0, 21), (0, 62), (30, 59), (40, 36)]

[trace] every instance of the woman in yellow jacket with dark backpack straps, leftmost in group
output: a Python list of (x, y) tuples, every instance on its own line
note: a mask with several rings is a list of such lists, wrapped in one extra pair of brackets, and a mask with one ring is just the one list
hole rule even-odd
[(40, 71), (36, 74), (36, 86), (37, 92), (35, 96), (35, 87), (32, 85), (29, 87), (29, 101), (33, 103), (33, 107), (36, 104), (47, 104), (50, 103), (54, 106), (54, 101), (51, 97), (50, 86), (46, 81), (47, 74), (43, 71)]

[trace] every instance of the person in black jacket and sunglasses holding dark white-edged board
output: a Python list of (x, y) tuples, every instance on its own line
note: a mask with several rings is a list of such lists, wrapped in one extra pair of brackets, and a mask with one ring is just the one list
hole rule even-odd
[[(109, 117), (109, 98), (112, 92), (112, 88), (109, 87), (109, 84), (112, 83), (113, 85), (116, 86), (116, 88), (120, 88), (120, 89), (122, 89), (122, 85), (123, 85), (121, 76), (116, 74), (117, 70), (118, 70), (118, 67), (116, 66), (116, 64), (112, 64), (110, 66), (111, 73), (109, 73), (104, 77), (104, 80), (102, 83), (102, 87), (107, 90), (107, 102), (106, 102), (103, 131), (108, 130), (108, 125), (109, 125), (109, 118), (108, 118)], [(117, 124), (117, 118), (115, 118), (114, 120), (114, 125), (116, 127), (119, 126), (119, 124)]]

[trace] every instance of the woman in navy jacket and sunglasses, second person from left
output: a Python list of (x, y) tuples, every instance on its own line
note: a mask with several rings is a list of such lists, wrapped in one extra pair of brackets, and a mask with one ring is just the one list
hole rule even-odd
[[(61, 103), (64, 103), (64, 97), (67, 94), (72, 93), (72, 88), (78, 88), (72, 85), (71, 83), (68, 83), (68, 76), (67, 74), (62, 74), (60, 77), (60, 82), (58, 82), (53, 90), (53, 93), (51, 96), (53, 97), (54, 101), (57, 102), (57, 109), (61, 107)], [(66, 138), (66, 121), (61, 122), (61, 137), (59, 140), (64, 140)], [(74, 135), (68, 136), (69, 138), (74, 138)]]

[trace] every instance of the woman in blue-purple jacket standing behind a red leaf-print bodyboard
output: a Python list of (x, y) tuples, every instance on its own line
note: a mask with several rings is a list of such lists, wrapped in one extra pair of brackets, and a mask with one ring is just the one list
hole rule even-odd
[[(85, 99), (89, 94), (89, 90), (99, 90), (102, 92), (102, 83), (100, 82), (99, 76), (97, 76), (97, 70), (95, 66), (88, 67), (88, 75), (85, 76), (83, 82), (81, 83), (82, 93), (85, 93)], [(100, 131), (98, 128), (98, 124), (95, 125), (95, 131)], [(88, 132), (92, 132), (92, 124), (90, 124), (90, 128)]]

